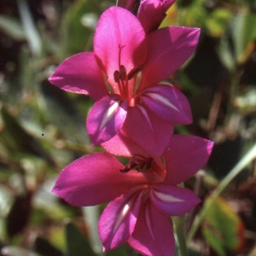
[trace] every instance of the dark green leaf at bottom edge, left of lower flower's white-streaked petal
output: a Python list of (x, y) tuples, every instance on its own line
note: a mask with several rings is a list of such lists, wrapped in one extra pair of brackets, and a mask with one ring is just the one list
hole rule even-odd
[(96, 256), (93, 253), (90, 242), (74, 224), (66, 226), (67, 256)]

